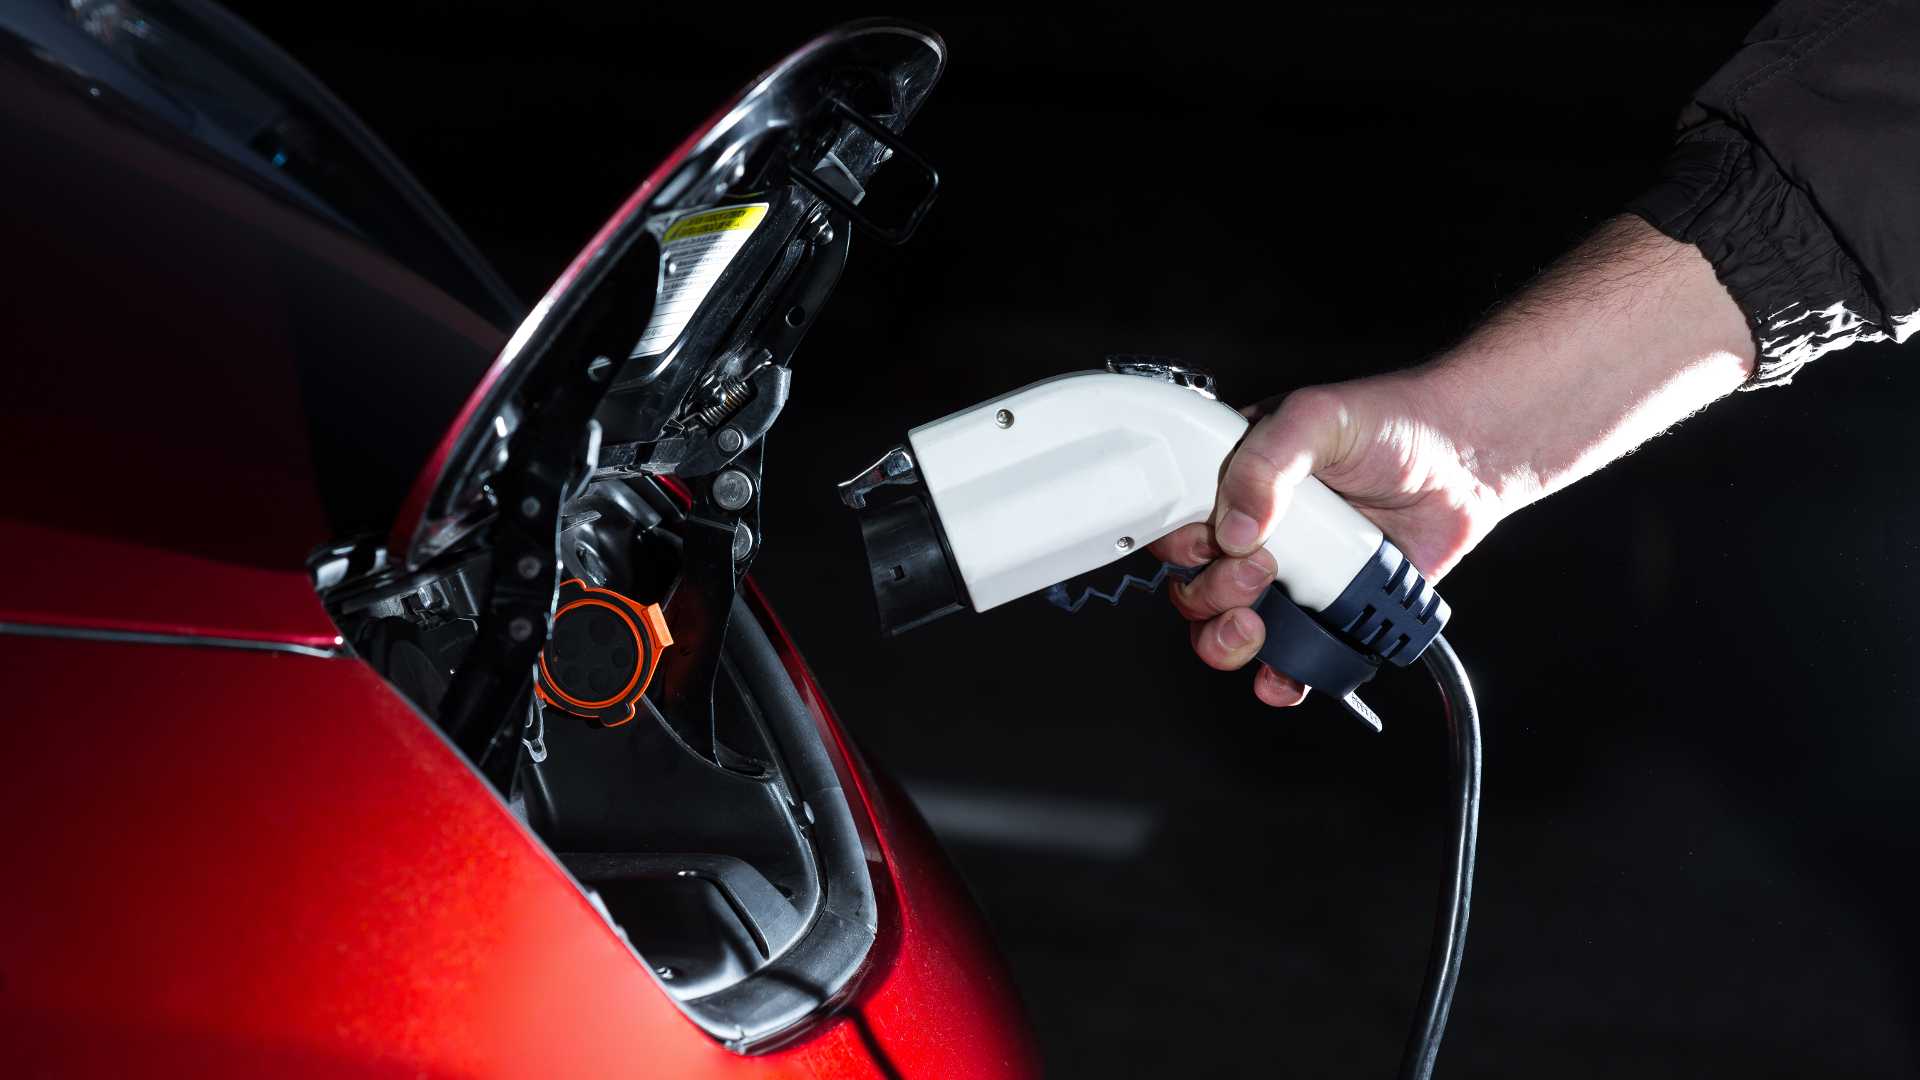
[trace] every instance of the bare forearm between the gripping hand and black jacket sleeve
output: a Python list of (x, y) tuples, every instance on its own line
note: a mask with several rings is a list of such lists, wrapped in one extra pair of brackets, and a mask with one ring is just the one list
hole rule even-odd
[(1736, 390), (1753, 354), (1699, 250), (1617, 217), (1419, 380), (1511, 513)]

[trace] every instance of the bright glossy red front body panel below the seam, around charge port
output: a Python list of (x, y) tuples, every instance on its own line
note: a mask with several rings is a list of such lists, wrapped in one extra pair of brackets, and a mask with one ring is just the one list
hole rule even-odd
[[(357, 661), (4, 636), (0, 669), (21, 715), (61, 717), (12, 792), (35, 826), (0, 834), (10, 1070), (1035, 1072), (977, 915), (860, 765), (870, 857), (893, 894), (885, 944), (833, 1019), (741, 1057), (680, 1015), (545, 847)], [(94, 686), (132, 707), (75, 715)]]

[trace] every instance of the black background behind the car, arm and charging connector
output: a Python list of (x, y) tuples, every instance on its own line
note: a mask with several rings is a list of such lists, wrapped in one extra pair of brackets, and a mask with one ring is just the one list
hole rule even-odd
[[(839, 21), (242, 12), (526, 296)], [(1106, 352), (1254, 400), (1444, 348), (1647, 183), (1755, 13), (922, 19), (952, 54), (910, 138), (945, 194), (912, 246), (854, 244), (797, 359), (758, 577), (947, 838), (1056, 1074), (1390, 1070), (1440, 871), (1432, 692), (1382, 680), (1384, 736), (1325, 701), (1267, 711), (1164, 598), (881, 640), (833, 482)], [(1910, 363), (1857, 348), (1738, 396), (1448, 578), (1486, 811), (1442, 1072), (1920, 1070)]]

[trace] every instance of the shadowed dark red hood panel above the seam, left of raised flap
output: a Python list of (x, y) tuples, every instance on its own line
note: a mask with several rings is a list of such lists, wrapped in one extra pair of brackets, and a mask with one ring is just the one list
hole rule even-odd
[[(505, 331), (88, 102), (0, 54), (0, 623), (330, 646), (305, 573), (330, 498), (397, 477), (384, 528)], [(396, 354), (417, 367), (355, 392)]]

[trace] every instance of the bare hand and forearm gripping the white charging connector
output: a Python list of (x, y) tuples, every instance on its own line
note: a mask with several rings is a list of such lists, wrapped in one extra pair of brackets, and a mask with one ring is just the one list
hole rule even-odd
[[(1292, 490), (1319, 477), (1438, 580), (1509, 513), (1672, 429), (1753, 373), (1745, 315), (1692, 244), (1615, 217), (1450, 354), (1411, 371), (1296, 390), (1258, 417), (1208, 523), (1152, 546), (1212, 563), (1171, 590), (1212, 667), (1265, 642), (1248, 605)], [(1306, 696), (1265, 665), (1254, 694)]]

